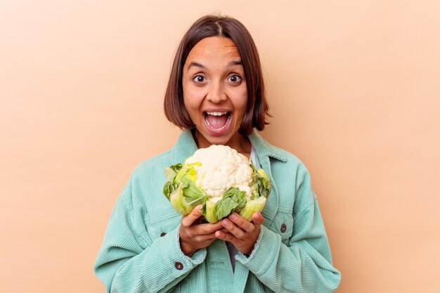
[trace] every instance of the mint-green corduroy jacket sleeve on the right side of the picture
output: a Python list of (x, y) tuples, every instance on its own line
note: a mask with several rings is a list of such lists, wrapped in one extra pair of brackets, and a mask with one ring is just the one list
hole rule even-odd
[[(275, 292), (333, 292), (341, 274), (332, 266), (328, 238), (308, 172), (297, 191), (292, 237), (287, 244), (266, 226), (249, 257), (236, 259)], [(295, 213), (296, 210), (296, 213)]]

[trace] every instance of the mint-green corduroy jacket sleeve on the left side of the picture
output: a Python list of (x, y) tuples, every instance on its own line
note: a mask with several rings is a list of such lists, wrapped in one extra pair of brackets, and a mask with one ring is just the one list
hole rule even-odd
[(106, 292), (171, 292), (206, 257), (200, 249), (190, 258), (179, 245), (179, 227), (152, 241), (145, 225), (136, 225), (131, 183), (119, 196), (95, 262)]

